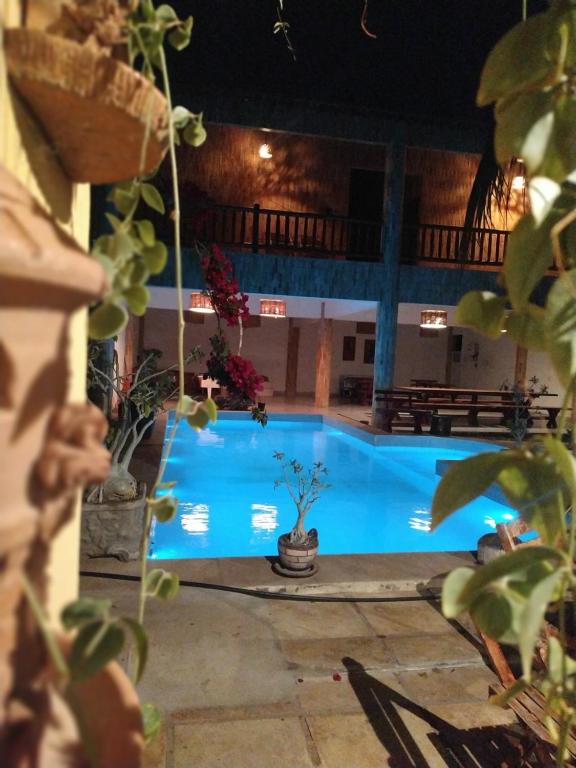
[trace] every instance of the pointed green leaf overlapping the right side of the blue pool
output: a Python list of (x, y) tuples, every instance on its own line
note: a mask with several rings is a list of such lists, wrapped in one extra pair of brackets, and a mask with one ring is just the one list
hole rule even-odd
[(492, 485), (503, 467), (511, 460), (511, 453), (481, 453), (451, 464), (434, 495), (432, 529)]

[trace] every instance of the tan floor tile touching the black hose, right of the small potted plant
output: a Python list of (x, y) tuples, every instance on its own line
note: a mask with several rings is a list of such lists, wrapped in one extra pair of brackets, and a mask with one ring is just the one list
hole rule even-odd
[[(378, 635), (413, 635), (450, 633), (451, 626), (442, 616), (438, 603), (426, 601), (399, 603), (360, 603), (358, 608)], [(455, 630), (454, 630), (455, 631)]]

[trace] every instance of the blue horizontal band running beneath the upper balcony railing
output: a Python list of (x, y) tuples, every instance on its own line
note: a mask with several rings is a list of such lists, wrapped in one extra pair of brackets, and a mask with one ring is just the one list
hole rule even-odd
[[(230, 253), (240, 287), (246, 293), (309, 296), (327, 299), (379, 301), (385, 290), (381, 263), (310, 259), (271, 254)], [(184, 250), (184, 287), (202, 288), (204, 281), (197, 254)], [(403, 264), (400, 267), (399, 301), (414, 304), (455, 305), (471, 290), (496, 291), (498, 273), (483, 270), (445, 269)], [(174, 260), (152, 285), (174, 285)], [(548, 283), (537, 298), (542, 301)]]

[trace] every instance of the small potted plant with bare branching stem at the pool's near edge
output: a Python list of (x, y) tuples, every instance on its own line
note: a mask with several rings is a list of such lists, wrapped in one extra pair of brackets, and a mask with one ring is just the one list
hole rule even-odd
[(282, 477), (274, 482), (274, 487), (286, 487), (297, 511), (292, 530), (278, 537), (280, 563), (275, 570), (284, 576), (312, 576), (318, 570), (314, 562), (318, 554), (318, 531), (316, 528), (306, 531), (304, 520), (322, 491), (330, 487), (325, 482), (328, 469), (321, 461), (306, 469), (296, 459), (286, 459), (280, 451), (274, 452), (274, 458), (282, 467)]

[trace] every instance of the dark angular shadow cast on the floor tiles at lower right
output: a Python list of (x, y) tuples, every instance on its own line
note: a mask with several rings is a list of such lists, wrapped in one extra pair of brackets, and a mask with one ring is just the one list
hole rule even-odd
[(432, 748), (448, 768), (520, 768), (532, 745), (521, 731), (505, 726), (459, 730), (446, 720), (415, 704), (401, 693), (368, 674), (355, 659), (342, 659), (348, 679), (374, 733), (390, 755), (389, 768), (428, 768), (421, 747), (400, 716), (401, 710), (418, 717), (430, 727)]

